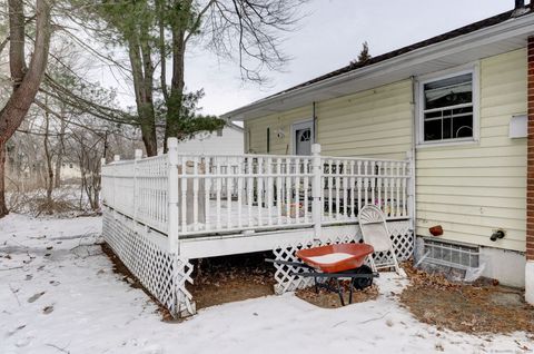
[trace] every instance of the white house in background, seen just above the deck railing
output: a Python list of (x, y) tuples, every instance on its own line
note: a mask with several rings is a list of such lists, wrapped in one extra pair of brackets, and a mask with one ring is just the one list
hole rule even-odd
[(178, 151), (184, 154), (243, 154), (245, 146), (244, 129), (228, 122), (221, 130), (201, 131), (192, 139), (178, 144)]

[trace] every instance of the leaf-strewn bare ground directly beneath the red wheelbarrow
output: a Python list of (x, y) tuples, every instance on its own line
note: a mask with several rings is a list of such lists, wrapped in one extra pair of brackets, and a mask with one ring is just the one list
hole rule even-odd
[[(344, 288), (344, 299), (345, 304), (348, 304), (348, 281), (344, 281), (343, 288)], [(325, 288), (319, 288), (318, 293), (315, 292), (315, 286), (310, 286), (304, 289), (298, 289), (295, 292), (299, 298), (308, 302), (313, 305), (323, 308), (338, 308), (342, 307), (342, 302), (339, 301), (339, 295), (333, 292), (328, 292)], [(365, 303), (368, 301), (376, 299), (378, 297), (378, 288), (376, 285), (372, 285), (366, 287), (363, 291), (354, 291), (353, 292), (353, 304), (356, 303)]]

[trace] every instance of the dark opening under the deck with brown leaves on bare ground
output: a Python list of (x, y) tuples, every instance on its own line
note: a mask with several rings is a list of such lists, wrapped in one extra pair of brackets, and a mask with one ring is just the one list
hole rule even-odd
[(198, 259), (188, 285), (198, 308), (274, 294), (273, 255), (255, 253)]

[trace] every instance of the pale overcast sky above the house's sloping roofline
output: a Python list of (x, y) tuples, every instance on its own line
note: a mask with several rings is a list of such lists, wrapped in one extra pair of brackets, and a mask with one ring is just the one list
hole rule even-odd
[(378, 56), (513, 6), (514, 0), (310, 0), (303, 7), (309, 16), (299, 29), (284, 35), (284, 52), (293, 60), (284, 72), (268, 72), (268, 86), (243, 82), (237, 63), (200, 50), (187, 56), (186, 86), (204, 88), (204, 114), (221, 115), (346, 66), (364, 41), (370, 55)]

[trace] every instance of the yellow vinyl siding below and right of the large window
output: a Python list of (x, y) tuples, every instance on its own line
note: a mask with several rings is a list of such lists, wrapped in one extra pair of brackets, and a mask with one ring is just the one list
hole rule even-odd
[[(479, 69), (479, 142), (417, 149), (417, 234), (439, 224), (446, 239), (524, 250), (526, 139), (508, 138), (508, 124), (526, 112), (526, 50)], [(496, 228), (506, 237), (493, 243)]]

